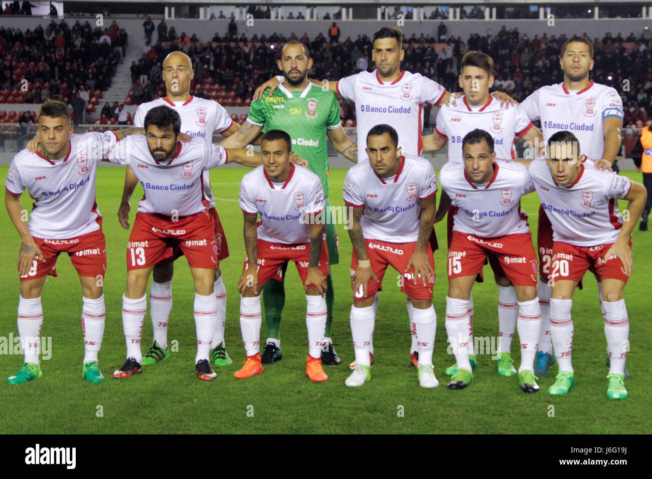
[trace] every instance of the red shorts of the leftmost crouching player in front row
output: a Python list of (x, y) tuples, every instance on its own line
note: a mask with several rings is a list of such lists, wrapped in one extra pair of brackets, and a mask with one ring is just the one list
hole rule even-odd
[(57, 276), (55, 265), (60, 253), (68, 253), (72, 266), (80, 276), (104, 276), (106, 272), (106, 242), (101, 229), (76, 238), (49, 240), (34, 238), (34, 242), (44, 255), (44, 261), (34, 259), (32, 267), (21, 281), (35, 280), (52, 274)]

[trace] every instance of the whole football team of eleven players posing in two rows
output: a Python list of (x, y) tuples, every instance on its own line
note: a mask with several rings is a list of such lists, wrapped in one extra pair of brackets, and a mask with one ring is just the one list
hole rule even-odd
[[(389, 381), (385, 371), (398, 368), (383, 358), (387, 349), (374, 351), (374, 338), (391, 321), (402, 331), (392, 351), (398, 364), (410, 365), (408, 381), (438, 388), (423, 400), (456, 395), (464, 402), (490, 381), (521, 398), (516, 402), (541, 395), (584, 396), (591, 403), (628, 398), (625, 285), (645, 276), (644, 265), (634, 267), (632, 237), (647, 229), (651, 209), (652, 134), (646, 126), (632, 150), (638, 176), (621, 174), (614, 161), (623, 156), (627, 105), (617, 89), (593, 80), (594, 42), (582, 32), (559, 42), (558, 76), (517, 101), (494, 84), (499, 63), (481, 51), (481, 42), (473, 50), (469, 41), (447, 67), (452, 84), (408, 71), (408, 39), (395, 25), (387, 22), (370, 36), (366, 70), (341, 78), (310, 77), (318, 56), (312, 43), (279, 42), (278, 74), (260, 78), (239, 121), (218, 100), (196, 96), (194, 59), (177, 44), (160, 64), (164, 94), (143, 96), (151, 101), (138, 106), (133, 126), (120, 121), (126, 127), (111, 123), (76, 134), (77, 113), (71, 116), (63, 95), (35, 104), (36, 134), (13, 156), (5, 179), (6, 224), (13, 227), (8, 249), (20, 248), (18, 278), (5, 288), (14, 294), (20, 283), (21, 359), (3, 360), (3, 388), (55, 375), (61, 387), (68, 381), (122, 386), (167, 367), (201, 381), (232, 381), (235, 390), (274, 383), (278, 376), (267, 371), (285, 369), (305, 385), (336, 381), (342, 390), (365, 392), (391, 386), (381, 386)], [(355, 109), (356, 134), (344, 128), (342, 100)], [(438, 111), (426, 134), (431, 108)], [(332, 189), (329, 142), (350, 162), (343, 183)], [(444, 149), (445, 162), (436, 169), (429, 158)], [(123, 183), (111, 187), (113, 204), (98, 204), (102, 173), (123, 169)], [(640, 171), (645, 186), (632, 179)], [(227, 174), (237, 180), (237, 195), (215, 186), (228, 184), (222, 182)], [(220, 205), (233, 206), (228, 201), (237, 203), (237, 216), (222, 212)], [(525, 201), (537, 209), (526, 209)], [(110, 237), (117, 230), (108, 229), (110, 222), (128, 235), (126, 244)], [(114, 269), (105, 282), (113, 244), (126, 269)], [(437, 250), (443, 261), (436, 261)], [(83, 353), (78, 331), (70, 332), (79, 345), (71, 357), (83, 359), (68, 364), (67, 373), (50, 373), (42, 328), (59, 319), (41, 296), (57, 282), (57, 267), (68, 268), (57, 265), (66, 255), (82, 287), (81, 305), (78, 283), (66, 291), (66, 314), (78, 318), (81, 306), (83, 332)], [(5, 269), (14, 268), (11, 261)], [(173, 277), (191, 280), (186, 261), (194, 299), (185, 300), (193, 310), (179, 314), (194, 317), (194, 359), (187, 349), (173, 349), (177, 336), (168, 338), (168, 324), (182, 328), (170, 320), (173, 298), (181, 304), (172, 283)], [(597, 289), (584, 284), (593, 277)], [(436, 282), (443, 289), (435, 290)], [(484, 282), (495, 282), (497, 291)], [(398, 300), (389, 296), (394, 285)], [(121, 301), (110, 300), (109, 289)], [(491, 314), (474, 309), (478, 289), (492, 298)], [(286, 302), (295, 291), (304, 302)], [(227, 296), (239, 317), (229, 313)], [(377, 321), (390, 301), (400, 313)], [(601, 379), (589, 391), (582, 382), (589, 371), (582, 363), (575, 373), (572, 352), (586, 350), (582, 330), (600, 320), (598, 306), (604, 336), (591, 343), (601, 352), (590, 364)], [(348, 312), (348, 321), (336, 308)], [(123, 336), (110, 341), (119, 339), (126, 349), (123, 362), (112, 364), (100, 350), (117, 331), (110, 322), (120, 318)], [(491, 360), (481, 361), (485, 348), (477, 351), (480, 322), (496, 338)], [(183, 323), (187, 334), (191, 323)], [(283, 360), (297, 344), (286, 340), (282, 348), (281, 325), (301, 330), (303, 341), (307, 336), (301, 370), (288, 371)], [(227, 347), (230, 334), (243, 347), (236, 341)], [(630, 381), (637, 372), (642, 376), (632, 369)], [(276, 394), (286, 386), (275, 385)], [(446, 389), (454, 392), (439, 392)]]

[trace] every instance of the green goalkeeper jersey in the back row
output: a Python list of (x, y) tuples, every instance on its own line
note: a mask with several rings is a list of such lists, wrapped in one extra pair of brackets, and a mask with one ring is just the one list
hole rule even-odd
[(294, 154), (308, 160), (310, 171), (321, 179), (329, 197), (328, 148), (326, 131), (340, 126), (340, 106), (332, 91), (323, 91), (308, 82), (304, 91), (291, 92), (278, 85), (272, 96), (252, 102), (248, 121), (263, 126), (263, 132), (283, 130), (292, 139)]

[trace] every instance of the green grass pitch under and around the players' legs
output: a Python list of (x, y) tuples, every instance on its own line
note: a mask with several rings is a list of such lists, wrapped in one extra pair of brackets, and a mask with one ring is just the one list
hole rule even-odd
[[(8, 167), (0, 167), (2, 177)], [(604, 323), (597, 301), (595, 279), (585, 276), (583, 291), (574, 298), (575, 336), (573, 364), (576, 389), (565, 397), (548, 396), (552, 375), (541, 378), (541, 391), (523, 394), (516, 376), (497, 375), (490, 354), (479, 356), (475, 383), (462, 391), (447, 390), (445, 367), (454, 361), (445, 341), (447, 280), (445, 250), (435, 254), (437, 282), (434, 306), (439, 317), (434, 364), (439, 388), (419, 387), (417, 371), (409, 362), (409, 325), (406, 300), (397, 286), (396, 272), (385, 275), (374, 336), (372, 379), (361, 388), (347, 388), (348, 364), (353, 360), (349, 328), (351, 243), (338, 225), (340, 265), (333, 267), (336, 302), (333, 340), (342, 358), (340, 366), (325, 366), (326, 383), (311, 383), (304, 374), (306, 347), (305, 299), (293, 267), (286, 279), (286, 308), (281, 336), (283, 360), (246, 380), (233, 379), (244, 362), (239, 327), (236, 284), (242, 270), (244, 245), (242, 213), (237, 191), (245, 169), (217, 169), (211, 173), (213, 191), (228, 237), (231, 257), (221, 263), (227, 289), (226, 346), (233, 365), (216, 368), (215, 381), (199, 381), (194, 372), (196, 352), (192, 315), (193, 287), (185, 259), (175, 265), (173, 308), (168, 341), (178, 341), (178, 352), (143, 373), (118, 381), (111, 373), (125, 358), (121, 321), (121, 295), (125, 291), (125, 248), (128, 231), (117, 222), (124, 171), (100, 167), (97, 202), (104, 217), (108, 270), (104, 282), (106, 330), (100, 366), (107, 377), (94, 385), (82, 379), (83, 340), (80, 315), (82, 291), (67, 255), (59, 257), (59, 276), (44, 288), (42, 336), (52, 337), (52, 358), (42, 360), (43, 377), (23, 385), (7, 385), (5, 378), (22, 364), (22, 355), (0, 355), (0, 433), (649, 433), (649, 398), (652, 393), (649, 345), (652, 340), (649, 308), (652, 291), (652, 232), (634, 231), (634, 274), (625, 289), (630, 317), (630, 353), (626, 382), (629, 398), (606, 398)], [(341, 191), (346, 170), (331, 171), (331, 202), (343, 205)], [(636, 181), (640, 174), (627, 172)], [(140, 187), (134, 193), (131, 222)], [(31, 209), (27, 193), (23, 206)], [(528, 195), (524, 209), (536, 213), (538, 198)], [(621, 206), (622, 208), (623, 206)], [(537, 216), (529, 220), (536, 231)], [(19, 281), (16, 259), (19, 237), (8, 215), (0, 215), (0, 336), (18, 334), (16, 307)], [(638, 228), (638, 227), (637, 227)], [(445, 222), (437, 225), (445, 244)], [(497, 336), (497, 291), (488, 281), (473, 288), (475, 335)], [(149, 304), (148, 304), (149, 308)], [(265, 327), (261, 341), (265, 341)], [(143, 328), (143, 353), (152, 341), (149, 314)], [(518, 341), (512, 344), (516, 364)], [(554, 406), (552, 408), (551, 406)], [(554, 413), (554, 415), (553, 415)]]

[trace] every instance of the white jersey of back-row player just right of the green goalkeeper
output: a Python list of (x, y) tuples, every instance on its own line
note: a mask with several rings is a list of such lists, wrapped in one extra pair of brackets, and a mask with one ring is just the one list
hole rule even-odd
[(398, 132), (403, 153), (419, 156), (423, 149), (423, 105), (437, 104), (446, 89), (419, 73), (403, 72), (391, 83), (378, 78), (378, 70), (360, 72), (337, 82), (337, 91), (355, 102), (358, 158), (366, 157), (366, 135), (385, 123)]

